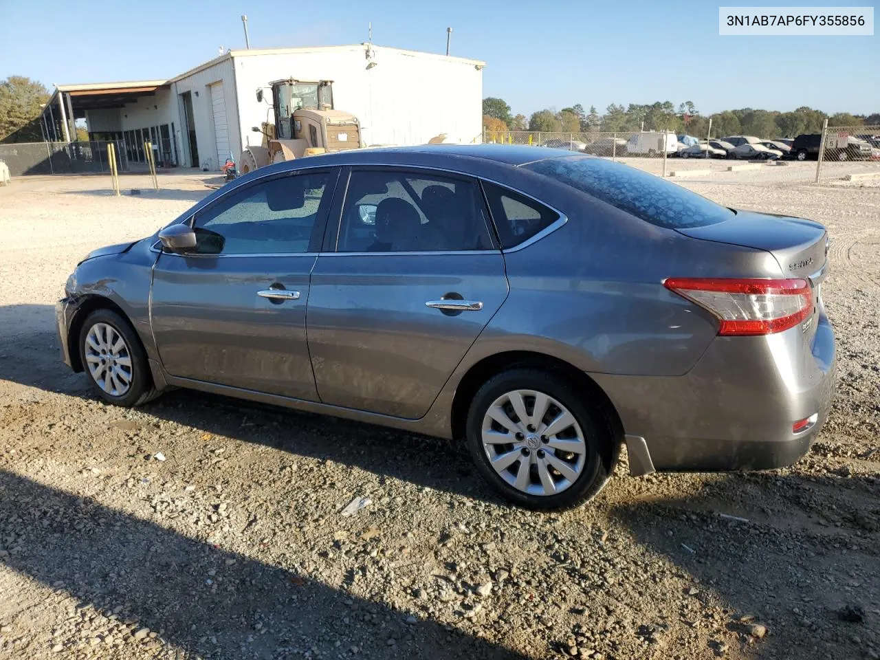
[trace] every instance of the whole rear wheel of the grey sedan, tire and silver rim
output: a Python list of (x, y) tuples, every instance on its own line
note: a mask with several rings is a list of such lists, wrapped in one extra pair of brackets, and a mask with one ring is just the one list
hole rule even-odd
[(530, 509), (586, 502), (608, 480), (612, 437), (583, 392), (542, 370), (503, 371), (476, 393), (467, 443), (502, 496)]

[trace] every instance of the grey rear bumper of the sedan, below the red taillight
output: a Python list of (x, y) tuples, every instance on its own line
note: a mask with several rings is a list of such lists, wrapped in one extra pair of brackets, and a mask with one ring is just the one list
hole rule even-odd
[[(811, 341), (803, 328), (764, 337), (717, 337), (679, 377), (590, 374), (642, 436), (658, 472), (790, 466), (810, 450), (831, 409), (834, 334), (825, 313)], [(808, 329), (809, 332), (809, 329)], [(801, 433), (792, 424), (816, 414)]]

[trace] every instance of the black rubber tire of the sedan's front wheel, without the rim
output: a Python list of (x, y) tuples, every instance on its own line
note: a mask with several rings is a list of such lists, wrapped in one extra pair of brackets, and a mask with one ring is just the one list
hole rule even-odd
[[(111, 326), (125, 341), (128, 348), (128, 356), (131, 358), (131, 382), (128, 385), (128, 391), (121, 396), (114, 396), (110, 392), (105, 392), (100, 385), (92, 378), (89, 365), (86, 362), (86, 338), (92, 327), (98, 323)], [(92, 386), (92, 392), (98, 395), (99, 399), (111, 403), (114, 406), (132, 407), (140, 406), (147, 401), (155, 399), (159, 392), (153, 386), (153, 379), (150, 374), (150, 363), (147, 362), (146, 353), (143, 350), (140, 338), (137, 336), (135, 329), (120, 314), (108, 310), (99, 309), (89, 314), (83, 322), (83, 327), (79, 332), (78, 344), (79, 355), (84, 367), (85, 378)]]

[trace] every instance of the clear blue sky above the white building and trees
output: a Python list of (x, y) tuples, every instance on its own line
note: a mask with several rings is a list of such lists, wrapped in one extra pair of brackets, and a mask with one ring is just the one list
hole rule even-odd
[[(722, 37), (719, 4), (334, 0), (330, 10), (290, 4), (286, 16), (277, 2), (0, 0), (0, 79), (18, 74), (51, 88), (172, 77), (221, 45), (244, 48), (246, 13), (252, 48), (359, 43), (371, 21), (378, 45), (442, 53), (451, 26), (452, 55), (488, 62), (484, 96), (526, 115), (667, 99), (692, 100), (703, 114), (747, 106), (880, 112), (880, 36)], [(834, 4), (843, 5), (823, 3)]]

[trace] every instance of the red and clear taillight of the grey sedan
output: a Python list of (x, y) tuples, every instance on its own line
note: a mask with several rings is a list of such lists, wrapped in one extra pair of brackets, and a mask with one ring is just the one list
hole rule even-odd
[(664, 286), (718, 317), (718, 334), (773, 334), (810, 316), (813, 292), (806, 280), (670, 277)]

